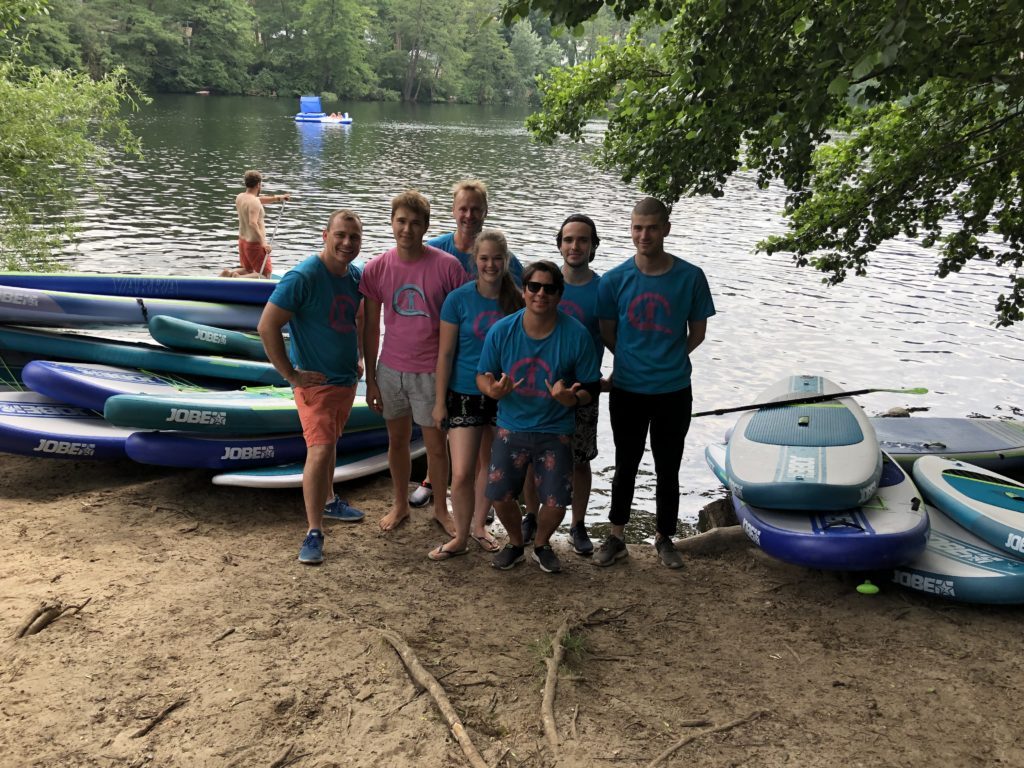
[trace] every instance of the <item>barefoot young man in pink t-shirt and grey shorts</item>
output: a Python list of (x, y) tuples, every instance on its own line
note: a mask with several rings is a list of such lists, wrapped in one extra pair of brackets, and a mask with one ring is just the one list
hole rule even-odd
[[(409, 518), (409, 441), (413, 422), (423, 432), (427, 470), (434, 493), (434, 517), (454, 536), (447, 510), (447, 453), (444, 434), (434, 423), (434, 371), (441, 304), (469, 280), (459, 260), (424, 245), (430, 224), (430, 203), (415, 189), (391, 201), (391, 232), (395, 247), (373, 259), (362, 270), (359, 291), (366, 297), (362, 349), (367, 362), (367, 401), (387, 423), (388, 468), (394, 505), (380, 520), (391, 530)], [(384, 343), (380, 359), (381, 310)], [(439, 490), (439, 493), (438, 493)]]

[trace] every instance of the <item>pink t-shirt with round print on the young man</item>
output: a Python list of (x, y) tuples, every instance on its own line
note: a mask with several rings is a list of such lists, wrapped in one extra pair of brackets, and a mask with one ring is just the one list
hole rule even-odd
[(359, 291), (380, 303), (384, 315), (380, 361), (407, 374), (433, 373), (441, 304), (468, 280), (459, 259), (433, 246), (424, 245), (423, 256), (414, 262), (398, 258), (396, 248), (372, 259)]

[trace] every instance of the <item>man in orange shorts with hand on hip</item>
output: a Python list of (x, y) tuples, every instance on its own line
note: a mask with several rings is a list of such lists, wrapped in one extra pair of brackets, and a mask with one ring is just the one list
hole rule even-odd
[[(274, 288), (259, 322), (266, 356), (293, 387), (306, 441), (302, 498), (308, 530), (299, 560), (324, 560), (324, 515), (346, 520), (362, 513), (333, 490), (338, 438), (352, 411), (362, 375), (359, 333), (361, 269), (352, 263), (362, 245), (362, 221), (351, 211), (331, 214), (324, 248), (290, 269)], [(286, 351), (282, 329), (291, 332)]]

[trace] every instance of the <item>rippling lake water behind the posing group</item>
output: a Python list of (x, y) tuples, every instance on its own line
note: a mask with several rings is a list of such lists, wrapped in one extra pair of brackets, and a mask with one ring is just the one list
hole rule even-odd
[[(266, 194), (292, 193), (267, 209), (275, 271), (317, 250), (330, 211), (364, 217), (364, 254), (393, 245), (389, 200), (415, 186), (433, 203), (429, 236), (451, 231), (452, 184), (465, 176), (490, 189), (488, 225), (501, 226), (524, 262), (557, 260), (555, 232), (569, 213), (589, 214), (601, 237), (594, 267), (632, 254), (630, 209), (639, 193), (594, 169), (587, 147), (534, 144), (526, 113), (463, 105), (346, 104), (351, 126), (296, 124), (291, 99), (162, 96), (132, 118), (141, 160), (125, 159), (101, 176), (102, 195), (84, 198), (80, 270), (206, 274), (234, 265), (234, 196), (248, 168), (260, 169)], [(600, 127), (590, 139), (597, 141)], [(866, 278), (826, 288), (820, 274), (784, 255), (754, 253), (783, 227), (782, 194), (739, 175), (719, 200), (680, 201), (669, 250), (708, 274), (718, 314), (693, 354), (694, 409), (756, 400), (791, 374), (821, 374), (845, 388), (928, 387), (925, 396), (878, 393), (868, 413), (894, 406), (934, 416), (1022, 416), (1024, 328), (991, 326), (1006, 278), (990, 264), (938, 280), (937, 255), (912, 243), (881, 249)], [(605, 357), (610, 370), (610, 355)], [(694, 420), (680, 472), (683, 522), (722, 492), (703, 461), (735, 416)], [(613, 470), (602, 406), (600, 456), (594, 461), (590, 516), (606, 520)], [(641, 467), (637, 509), (653, 510), (653, 466)], [(645, 480), (650, 480), (646, 482)], [(639, 516), (641, 519), (650, 515)], [(650, 532), (646, 525), (638, 531)]]

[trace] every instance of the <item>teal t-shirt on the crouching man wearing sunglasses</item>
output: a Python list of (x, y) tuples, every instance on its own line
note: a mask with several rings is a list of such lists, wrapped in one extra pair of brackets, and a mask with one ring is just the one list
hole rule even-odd
[(543, 339), (531, 339), (522, 327), (525, 309), (496, 323), (480, 352), (479, 373), (503, 373), (522, 383), (498, 400), (498, 426), (513, 432), (572, 434), (575, 411), (551, 396), (547, 384), (594, 384), (601, 369), (587, 329), (558, 312), (554, 330)]

